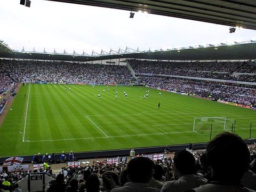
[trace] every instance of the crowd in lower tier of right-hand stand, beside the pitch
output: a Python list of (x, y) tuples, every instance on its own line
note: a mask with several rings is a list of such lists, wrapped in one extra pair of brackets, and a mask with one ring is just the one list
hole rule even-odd
[(198, 95), (212, 100), (224, 100), (246, 106), (256, 106), (256, 89), (207, 83), (203, 81), (188, 81), (171, 77), (142, 76), (142, 82), (155, 89), (165, 89), (190, 95)]

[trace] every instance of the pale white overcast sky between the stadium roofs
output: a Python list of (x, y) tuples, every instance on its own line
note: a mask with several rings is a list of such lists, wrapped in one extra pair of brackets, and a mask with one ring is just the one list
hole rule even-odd
[(249, 29), (229, 33), (229, 26), (101, 7), (31, 0), (0, 0), (0, 39), (14, 50), (91, 54), (101, 49), (140, 51), (256, 39)]

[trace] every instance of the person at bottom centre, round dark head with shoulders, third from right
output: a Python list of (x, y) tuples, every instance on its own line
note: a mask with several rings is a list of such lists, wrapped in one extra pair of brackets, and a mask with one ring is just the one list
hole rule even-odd
[(124, 187), (117, 187), (111, 192), (159, 192), (159, 189), (148, 186), (152, 178), (154, 162), (147, 157), (135, 157), (127, 165), (127, 174), (131, 182), (125, 183)]

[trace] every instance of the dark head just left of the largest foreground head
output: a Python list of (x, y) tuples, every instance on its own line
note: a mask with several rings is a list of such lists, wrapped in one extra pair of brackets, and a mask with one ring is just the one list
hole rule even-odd
[(182, 175), (195, 174), (196, 165), (195, 157), (189, 151), (177, 151), (174, 154), (173, 165), (174, 171), (180, 178)]

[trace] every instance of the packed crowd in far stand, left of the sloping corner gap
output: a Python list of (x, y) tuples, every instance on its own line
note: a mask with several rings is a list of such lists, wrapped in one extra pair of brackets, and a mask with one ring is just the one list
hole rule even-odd
[(126, 66), (33, 60), (0, 60), (0, 66), (7, 75), (19, 83), (134, 83), (134, 78)]

